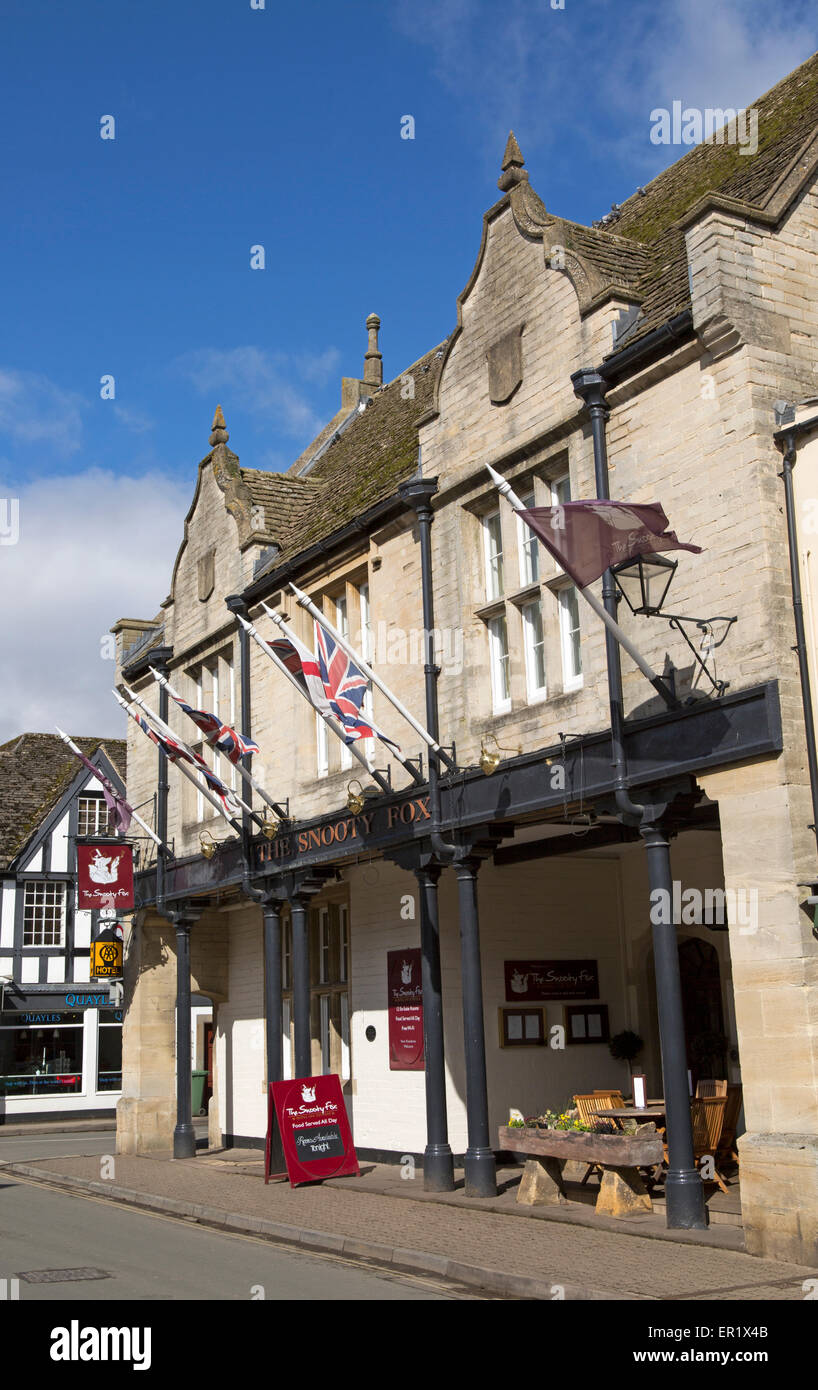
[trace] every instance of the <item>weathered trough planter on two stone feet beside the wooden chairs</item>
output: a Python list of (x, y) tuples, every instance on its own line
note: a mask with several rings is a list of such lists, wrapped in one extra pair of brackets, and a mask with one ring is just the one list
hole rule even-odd
[(527, 1207), (568, 1201), (562, 1165), (568, 1159), (598, 1163), (602, 1169), (595, 1211), (601, 1216), (636, 1216), (652, 1211), (640, 1168), (662, 1162), (662, 1137), (654, 1125), (645, 1133), (591, 1134), (569, 1130), (522, 1129), (501, 1125), (499, 1147), (526, 1154), (518, 1202)]

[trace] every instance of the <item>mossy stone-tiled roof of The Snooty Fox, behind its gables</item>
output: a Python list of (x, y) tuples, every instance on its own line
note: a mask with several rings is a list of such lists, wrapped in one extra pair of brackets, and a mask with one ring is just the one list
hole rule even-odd
[[(555, 218), (529, 185), (527, 215), (533, 225), (545, 229), (550, 222), (561, 222), (569, 231), (572, 249), (598, 272), (602, 285), (640, 306), (612, 352), (690, 309), (683, 224), (697, 204), (704, 206), (708, 196), (721, 196), (762, 211), (773, 200), (782, 177), (818, 128), (818, 54), (750, 110), (758, 115), (755, 154), (743, 154), (737, 143), (715, 139), (694, 146), (641, 193), (629, 197), (608, 227)], [(250, 503), (264, 509), (264, 524), (253, 524), (252, 539), (275, 546), (275, 553), (263, 556), (260, 574), (342, 528), (412, 475), (417, 463), (417, 420), (433, 404), (444, 346), (378, 388), (328, 442), (321, 439), (307, 477), (298, 475), (305, 455), (288, 473), (243, 468), (230, 455), (230, 470), (248, 489)], [(408, 377), (415, 384), (412, 398), (405, 391)]]

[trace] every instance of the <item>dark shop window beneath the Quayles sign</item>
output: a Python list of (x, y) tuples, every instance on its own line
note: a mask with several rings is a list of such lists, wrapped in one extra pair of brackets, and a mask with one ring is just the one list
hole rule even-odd
[(82, 1091), (82, 1013), (54, 1023), (0, 1027), (0, 1095), (78, 1095)]

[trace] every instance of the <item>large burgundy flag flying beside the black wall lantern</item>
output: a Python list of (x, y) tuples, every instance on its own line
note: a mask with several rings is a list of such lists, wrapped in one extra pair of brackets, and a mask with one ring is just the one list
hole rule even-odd
[(637, 555), (657, 550), (701, 553), (700, 545), (689, 545), (675, 531), (668, 531), (668, 517), (658, 502), (565, 502), (558, 507), (523, 507), (518, 516), (580, 589), (611, 566)]

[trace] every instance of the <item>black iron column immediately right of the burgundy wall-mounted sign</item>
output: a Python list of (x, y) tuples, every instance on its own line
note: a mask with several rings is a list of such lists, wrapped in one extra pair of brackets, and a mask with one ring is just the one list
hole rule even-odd
[(440, 866), (416, 869), (420, 888), (420, 951), (423, 981), (423, 1047), (426, 1058), (426, 1148), (423, 1186), (427, 1193), (451, 1193), (455, 1161), (449, 1148), (447, 1072), (444, 1052), (442, 991), (440, 979), (440, 919), (437, 884)]

